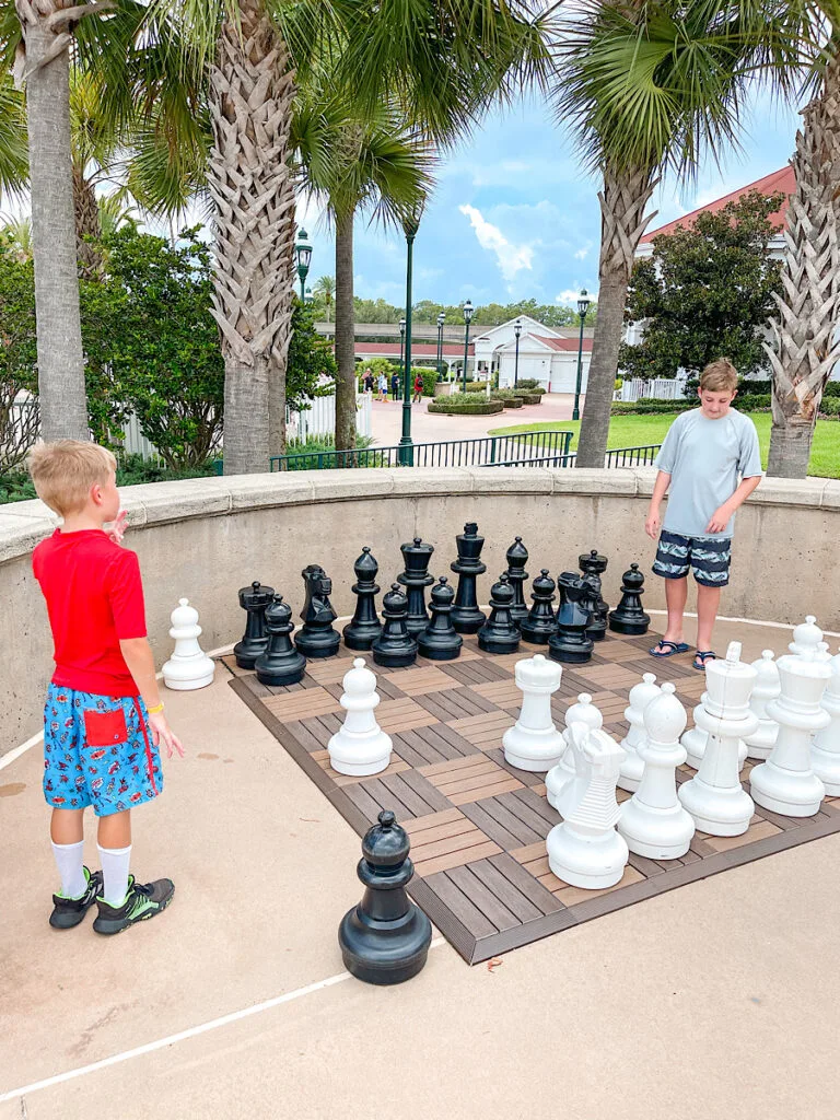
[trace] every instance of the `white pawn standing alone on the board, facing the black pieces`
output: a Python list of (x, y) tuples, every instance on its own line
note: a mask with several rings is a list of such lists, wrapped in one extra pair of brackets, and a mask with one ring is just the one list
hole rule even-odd
[(392, 743), (373, 715), (380, 702), (376, 674), (367, 669), (364, 657), (355, 657), (342, 685), (344, 693), (339, 702), (347, 715), (327, 744), (329, 764), (339, 774), (379, 774), (391, 762)]

